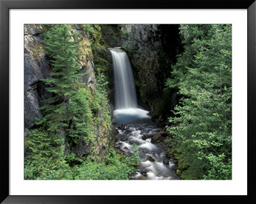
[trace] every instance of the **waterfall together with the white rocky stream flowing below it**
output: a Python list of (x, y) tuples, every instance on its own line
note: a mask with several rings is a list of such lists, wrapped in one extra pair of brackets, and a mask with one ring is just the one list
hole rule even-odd
[[(148, 111), (138, 108), (136, 90), (127, 54), (122, 49), (109, 49), (115, 78), (115, 128), (118, 130), (116, 148), (127, 155), (132, 154), (132, 145), (138, 146), (141, 164), (132, 179), (179, 179), (175, 164), (166, 157), (160, 144), (151, 143), (150, 134), (161, 129), (150, 120)], [(160, 134), (160, 133), (159, 133)]]

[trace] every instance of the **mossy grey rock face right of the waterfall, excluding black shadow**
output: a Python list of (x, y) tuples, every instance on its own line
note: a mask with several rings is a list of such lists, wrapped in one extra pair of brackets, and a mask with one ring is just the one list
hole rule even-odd
[(128, 54), (138, 74), (134, 77), (135, 81), (136, 78), (140, 81), (140, 95), (151, 98), (157, 91), (157, 52), (162, 49), (159, 28), (156, 24), (131, 24), (127, 31), (129, 35), (124, 45), (132, 50)]

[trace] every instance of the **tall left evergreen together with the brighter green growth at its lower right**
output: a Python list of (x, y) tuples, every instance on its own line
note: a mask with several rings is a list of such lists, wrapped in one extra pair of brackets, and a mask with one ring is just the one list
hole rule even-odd
[[(45, 47), (52, 58), (52, 74), (50, 79), (44, 79), (54, 93), (47, 104), (41, 109), (44, 118), (37, 122), (49, 132), (58, 132), (60, 127), (65, 129), (68, 146), (76, 145), (79, 139), (86, 143), (95, 137), (89, 123), (92, 121), (92, 111), (87, 100), (88, 92), (81, 88), (83, 83), (78, 79), (84, 74), (77, 74), (80, 66), (76, 59), (79, 57), (79, 41), (76, 33), (70, 34), (67, 25), (53, 25), (44, 34)], [(71, 40), (71, 39), (77, 40)]]

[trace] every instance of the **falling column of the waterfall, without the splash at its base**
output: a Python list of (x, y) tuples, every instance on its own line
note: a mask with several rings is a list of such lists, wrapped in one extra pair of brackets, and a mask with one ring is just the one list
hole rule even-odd
[(131, 64), (126, 52), (121, 49), (110, 50), (115, 79), (115, 107), (127, 109), (138, 107)]

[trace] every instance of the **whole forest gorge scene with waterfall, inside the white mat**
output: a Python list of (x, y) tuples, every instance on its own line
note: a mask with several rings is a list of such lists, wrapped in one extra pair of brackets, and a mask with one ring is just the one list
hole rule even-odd
[(230, 25), (24, 25), (24, 179), (230, 179), (231, 70)]

